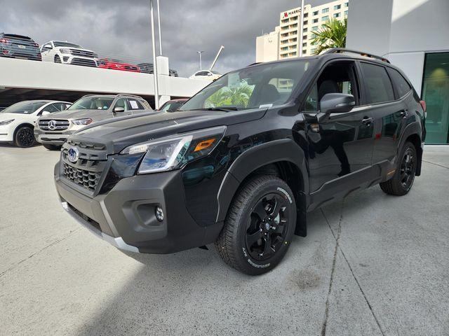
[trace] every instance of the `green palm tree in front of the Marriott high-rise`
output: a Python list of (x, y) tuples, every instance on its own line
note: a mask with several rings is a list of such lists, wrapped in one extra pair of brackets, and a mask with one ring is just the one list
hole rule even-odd
[(315, 55), (323, 50), (346, 46), (347, 19), (326, 21), (323, 26), (323, 29), (315, 32), (316, 37), (312, 41), (312, 44), (318, 45), (314, 52)]

